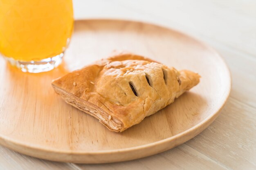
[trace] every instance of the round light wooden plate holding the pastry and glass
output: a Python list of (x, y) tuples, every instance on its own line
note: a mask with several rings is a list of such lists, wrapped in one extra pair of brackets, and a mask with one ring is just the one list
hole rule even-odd
[[(111, 132), (67, 105), (51, 81), (113, 50), (192, 70), (202, 78), (140, 124)], [(23, 73), (0, 58), (0, 82), (0, 144), (34, 157), (76, 163), (126, 161), (182, 144), (215, 120), (231, 87), (227, 65), (212, 48), (168, 28), (119, 20), (76, 21), (64, 62), (50, 72)]]

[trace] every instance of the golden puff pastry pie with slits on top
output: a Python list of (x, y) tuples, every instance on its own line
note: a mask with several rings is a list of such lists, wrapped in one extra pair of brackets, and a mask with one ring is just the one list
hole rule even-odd
[(68, 104), (121, 132), (169, 105), (199, 78), (142, 56), (119, 54), (57, 78), (52, 86)]

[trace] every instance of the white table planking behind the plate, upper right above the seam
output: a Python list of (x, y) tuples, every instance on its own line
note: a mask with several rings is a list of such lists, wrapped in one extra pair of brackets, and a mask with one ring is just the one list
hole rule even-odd
[[(90, 5), (74, 1), (76, 19), (116, 18), (138, 20), (209, 38), (256, 56), (256, 3), (254, 0), (96, 0)], [(95, 10), (98, 9), (98, 10)], [(84, 12), (86, 11), (86, 12)]]

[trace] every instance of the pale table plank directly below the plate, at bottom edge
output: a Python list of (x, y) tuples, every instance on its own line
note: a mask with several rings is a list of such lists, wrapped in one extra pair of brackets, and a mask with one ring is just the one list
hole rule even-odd
[[(189, 161), (184, 163), (184, 160)], [(129, 167), (129, 169), (133, 170), (157, 170), (160, 168), (168, 170), (186, 169), (188, 166), (196, 167), (197, 170), (227, 169), (186, 144), (158, 155), (137, 159), (136, 161), (78, 166), (82, 170), (119, 170), (124, 167)]]

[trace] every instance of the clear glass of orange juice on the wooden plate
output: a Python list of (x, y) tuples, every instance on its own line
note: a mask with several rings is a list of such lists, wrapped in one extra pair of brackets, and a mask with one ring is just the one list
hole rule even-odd
[(0, 0), (0, 53), (23, 72), (52, 70), (73, 25), (72, 0)]

